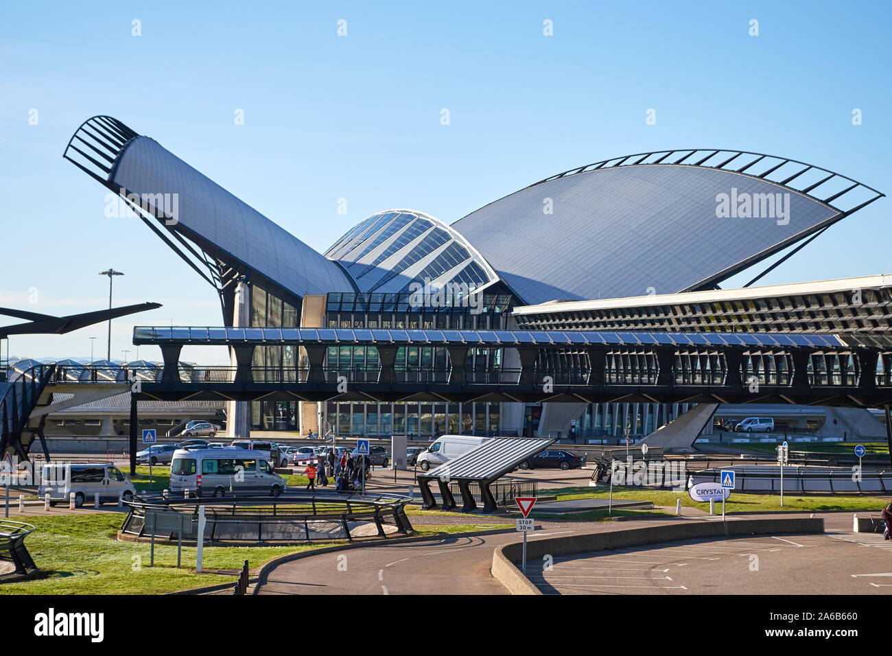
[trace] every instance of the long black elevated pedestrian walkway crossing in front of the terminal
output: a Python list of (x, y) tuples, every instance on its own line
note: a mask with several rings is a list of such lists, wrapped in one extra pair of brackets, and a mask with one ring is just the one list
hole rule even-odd
[[(582, 330), (136, 327), (164, 366), (139, 398), (549, 403), (892, 403), (892, 346), (816, 333)], [(225, 345), (235, 367), (184, 368), (183, 346)], [(329, 350), (362, 346), (375, 366), (343, 367)], [(291, 347), (293, 367), (256, 367), (254, 350)], [(407, 347), (434, 347), (445, 366), (400, 365)], [(466, 366), (498, 349), (503, 366)], [(511, 363), (514, 363), (513, 365)]]

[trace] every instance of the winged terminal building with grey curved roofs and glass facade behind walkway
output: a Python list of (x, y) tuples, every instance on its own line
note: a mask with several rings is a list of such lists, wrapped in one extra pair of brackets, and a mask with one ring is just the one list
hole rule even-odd
[[(378, 212), (318, 253), (273, 220), (120, 120), (97, 116), (65, 158), (119, 194), (216, 291), (234, 327), (524, 328), (649, 331), (832, 331), (888, 344), (892, 277), (752, 286), (791, 248), (882, 196), (817, 166), (765, 154), (677, 150), (567, 170), (451, 223), (416, 210)], [(696, 236), (696, 238), (691, 238)], [(744, 288), (720, 284), (742, 271)], [(253, 366), (297, 380), (306, 353), (270, 345)], [(329, 347), (339, 368), (374, 373), (374, 346)], [(516, 355), (474, 348), (466, 366), (516, 368)], [(580, 353), (554, 358), (585, 359)], [(622, 370), (630, 355), (610, 362)], [(714, 354), (704, 349), (706, 372)], [(395, 369), (419, 380), (444, 348), (409, 346)], [(752, 359), (760, 366), (758, 358)], [(854, 362), (854, 359), (853, 359)], [(857, 375), (828, 361), (828, 376)], [(852, 365), (855, 366), (854, 364)], [(688, 404), (230, 403), (230, 434), (285, 430), (357, 436), (442, 433), (581, 437), (648, 435)], [(814, 422), (813, 409), (808, 414)], [(791, 419), (792, 421), (793, 419)], [(834, 416), (834, 421), (836, 421)], [(822, 423), (822, 422), (819, 422)]]

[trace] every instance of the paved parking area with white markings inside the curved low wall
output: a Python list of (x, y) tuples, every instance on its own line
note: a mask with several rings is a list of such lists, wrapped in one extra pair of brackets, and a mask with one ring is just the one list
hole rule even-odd
[(530, 563), (527, 576), (544, 594), (887, 594), (892, 543), (882, 543), (845, 533), (685, 540)]

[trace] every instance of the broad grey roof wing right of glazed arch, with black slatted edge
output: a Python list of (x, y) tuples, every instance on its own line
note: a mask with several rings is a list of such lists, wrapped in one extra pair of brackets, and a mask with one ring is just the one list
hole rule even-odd
[[(719, 195), (760, 217), (720, 216)], [(881, 195), (771, 155), (664, 151), (565, 171), (452, 227), (526, 303), (618, 298), (714, 286)]]

